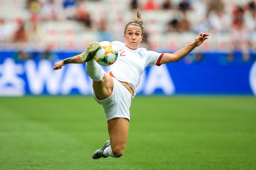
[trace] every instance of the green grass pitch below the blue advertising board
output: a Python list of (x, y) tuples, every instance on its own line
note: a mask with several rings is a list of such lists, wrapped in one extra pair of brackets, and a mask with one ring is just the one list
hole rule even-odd
[(91, 96), (0, 97), (0, 170), (255, 170), (253, 96), (137, 96), (124, 155)]

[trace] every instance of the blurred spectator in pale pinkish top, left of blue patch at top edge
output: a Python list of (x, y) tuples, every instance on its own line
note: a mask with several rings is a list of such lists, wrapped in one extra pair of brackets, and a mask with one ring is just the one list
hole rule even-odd
[(55, 2), (55, 0), (47, 0), (46, 3), (43, 3), (41, 18), (45, 21), (60, 20), (63, 16), (62, 10), (60, 3)]

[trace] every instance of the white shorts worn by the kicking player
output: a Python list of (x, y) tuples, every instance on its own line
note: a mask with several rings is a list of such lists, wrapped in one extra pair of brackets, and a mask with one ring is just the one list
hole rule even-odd
[(94, 91), (93, 97), (96, 102), (103, 106), (107, 121), (113, 118), (126, 118), (130, 121), (132, 95), (121, 82), (114, 77), (112, 77), (112, 79), (114, 81), (113, 92), (108, 98), (99, 100)]

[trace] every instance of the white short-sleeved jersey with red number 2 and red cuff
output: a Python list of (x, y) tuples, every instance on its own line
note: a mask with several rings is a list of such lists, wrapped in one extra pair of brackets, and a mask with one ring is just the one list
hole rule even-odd
[(119, 48), (119, 52), (118, 58), (110, 66), (109, 72), (111, 71), (113, 76), (119, 81), (127, 82), (133, 89), (135, 96), (143, 71), (149, 65), (159, 66), (163, 53), (147, 51), (145, 48), (132, 50), (125, 47), (125, 43), (120, 41), (113, 41), (112, 43)]

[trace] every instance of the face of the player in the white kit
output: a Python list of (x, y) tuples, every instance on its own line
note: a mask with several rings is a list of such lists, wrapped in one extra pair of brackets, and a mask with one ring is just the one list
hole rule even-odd
[(143, 38), (141, 28), (139, 26), (128, 26), (124, 38), (126, 47), (137, 50)]

